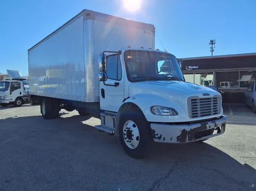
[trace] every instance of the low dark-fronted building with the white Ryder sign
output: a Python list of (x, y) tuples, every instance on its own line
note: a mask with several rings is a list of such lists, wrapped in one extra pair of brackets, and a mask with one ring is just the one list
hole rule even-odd
[[(217, 86), (223, 102), (244, 102), (247, 85), (256, 79), (256, 53), (183, 58), (186, 81)], [(210, 76), (211, 79), (207, 79)], [(199, 78), (199, 80), (198, 80)], [(208, 77), (209, 78), (209, 77)], [(199, 84), (199, 83), (198, 83)]]

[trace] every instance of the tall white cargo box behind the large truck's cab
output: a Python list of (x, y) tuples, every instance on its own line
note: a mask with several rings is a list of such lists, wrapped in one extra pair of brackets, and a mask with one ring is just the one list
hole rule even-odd
[(99, 55), (155, 48), (154, 25), (83, 10), (28, 49), (30, 94), (99, 102)]

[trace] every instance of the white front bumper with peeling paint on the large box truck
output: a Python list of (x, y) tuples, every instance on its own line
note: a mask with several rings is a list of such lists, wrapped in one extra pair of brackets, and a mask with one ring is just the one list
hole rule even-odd
[[(226, 116), (220, 119), (190, 125), (167, 125), (151, 123), (152, 136), (155, 142), (188, 143), (209, 139), (225, 132)], [(217, 131), (216, 134), (212, 134)]]

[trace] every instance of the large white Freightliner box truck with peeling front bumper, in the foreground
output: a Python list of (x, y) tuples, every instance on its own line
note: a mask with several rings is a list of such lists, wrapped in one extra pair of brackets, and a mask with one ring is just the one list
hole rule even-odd
[(221, 95), (184, 81), (176, 57), (155, 50), (154, 25), (83, 10), (28, 49), (28, 70), (44, 119), (60, 109), (101, 119), (95, 128), (119, 136), (133, 158), (154, 142), (225, 132)]

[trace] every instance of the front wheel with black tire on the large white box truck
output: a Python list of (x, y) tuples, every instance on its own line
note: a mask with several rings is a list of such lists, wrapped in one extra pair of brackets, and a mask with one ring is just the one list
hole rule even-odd
[(124, 152), (133, 159), (146, 157), (152, 150), (150, 123), (139, 108), (132, 107), (121, 116), (118, 130)]

